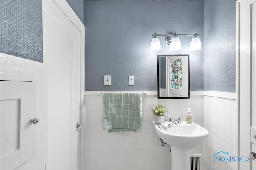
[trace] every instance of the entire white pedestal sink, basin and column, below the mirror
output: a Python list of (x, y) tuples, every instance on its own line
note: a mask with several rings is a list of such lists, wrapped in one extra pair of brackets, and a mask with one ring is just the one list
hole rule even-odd
[(153, 121), (153, 127), (156, 134), (172, 150), (172, 170), (190, 169), (190, 149), (200, 146), (209, 136), (209, 132), (196, 123), (187, 124), (182, 121), (181, 124), (174, 124), (167, 130), (161, 130)]

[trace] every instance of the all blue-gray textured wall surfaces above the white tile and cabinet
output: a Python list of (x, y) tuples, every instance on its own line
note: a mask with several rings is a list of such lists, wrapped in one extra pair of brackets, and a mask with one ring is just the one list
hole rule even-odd
[[(86, 25), (86, 90), (156, 90), (156, 55), (184, 53), (190, 54), (191, 90), (235, 92), (234, 0), (68, 3)], [(0, 52), (42, 62), (42, 1), (1, 0), (0, 18)], [(154, 31), (195, 30), (204, 57), (203, 50), (188, 51), (186, 38), (181, 51), (169, 51), (164, 38), (161, 51), (149, 50)], [(112, 75), (112, 86), (103, 86), (104, 75)]]

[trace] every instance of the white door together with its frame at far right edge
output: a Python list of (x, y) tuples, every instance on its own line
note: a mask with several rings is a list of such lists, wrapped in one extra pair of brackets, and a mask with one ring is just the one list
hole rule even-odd
[[(256, 153), (256, 0), (236, 2), (236, 110), (239, 156)], [(240, 169), (256, 169), (256, 161), (240, 161)]]

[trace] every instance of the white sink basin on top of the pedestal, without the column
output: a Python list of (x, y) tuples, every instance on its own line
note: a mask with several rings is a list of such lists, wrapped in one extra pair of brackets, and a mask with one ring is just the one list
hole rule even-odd
[(174, 124), (167, 130), (161, 130), (155, 121), (153, 127), (158, 136), (170, 146), (180, 150), (188, 150), (201, 145), (209, 136), (209, 132), (196, 123), (187, 124), (182, 121), (181, 124)]

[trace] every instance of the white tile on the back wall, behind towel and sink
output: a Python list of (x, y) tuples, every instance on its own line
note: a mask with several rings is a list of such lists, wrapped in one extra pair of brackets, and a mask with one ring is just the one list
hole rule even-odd
[[(152, 107), (167, 105), (167, 115), (186, 119), (190, 107), (193, 121), (203, 125), (203, 96), (191, 95), (190, 99), (158, 100), (154, 95), (142, 97), (142, 132), (112, 132), (102, 130), (102, 96), (85, 96), (84, 154), (85, 170), (170, 170), (170, 146), (161, 146), (152, 127)], [(231, 125), (231, 124), (230, 124)], [(230, 136), (231, 137), (231, 136)], [(202, 154), (203, 146), (191, 150)]]

